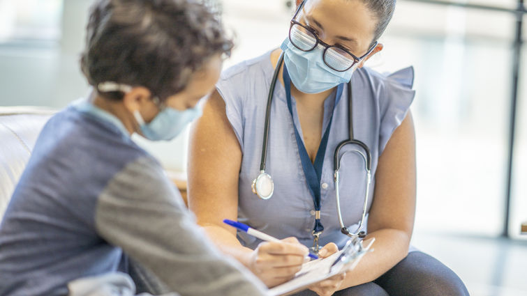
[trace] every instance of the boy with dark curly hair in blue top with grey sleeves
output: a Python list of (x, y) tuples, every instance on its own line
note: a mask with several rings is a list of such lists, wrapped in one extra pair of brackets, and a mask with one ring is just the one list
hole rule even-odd
[(93, 88), (40, 133), (0, 226), (0, 295), (265, 295), (130, 138), (169, 140), (200, 116), (231, 47), (195, 1), (94, 3), (81, 62)]

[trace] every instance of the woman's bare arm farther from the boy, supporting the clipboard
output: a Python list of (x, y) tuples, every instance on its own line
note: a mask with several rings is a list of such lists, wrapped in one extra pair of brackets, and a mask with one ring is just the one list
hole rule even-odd
[(339, 290), (373, 281), (406, 257), (415, 217), (415, 179), (415, 131), (408, 111), (378, 162), (365, 238), (376, 238), (375, 251), (347, 273)]

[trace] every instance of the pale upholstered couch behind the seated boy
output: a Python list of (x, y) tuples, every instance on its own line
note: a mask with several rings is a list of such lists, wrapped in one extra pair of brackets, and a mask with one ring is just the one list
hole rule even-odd
[[(0, 107), (0, 221), (31, 156), (40, 130), (54, 114), (40, 107)], [(168, 171), (186, 202), (186, 177)]]

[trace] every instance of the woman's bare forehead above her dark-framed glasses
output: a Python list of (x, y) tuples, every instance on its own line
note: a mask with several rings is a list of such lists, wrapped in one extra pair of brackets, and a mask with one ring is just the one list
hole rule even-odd
[(362, 0), (306, 0), (297, 21), (313, 28), (323, 42), (355, 56), (366, 54), (375, 41), (377, 20)]

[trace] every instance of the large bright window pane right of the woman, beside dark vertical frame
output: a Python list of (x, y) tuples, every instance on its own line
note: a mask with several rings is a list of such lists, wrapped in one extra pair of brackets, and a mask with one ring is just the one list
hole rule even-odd
[(378, 70), (413, 63), (416, 229), (503, 231), (514, 15), (399, 1)]

